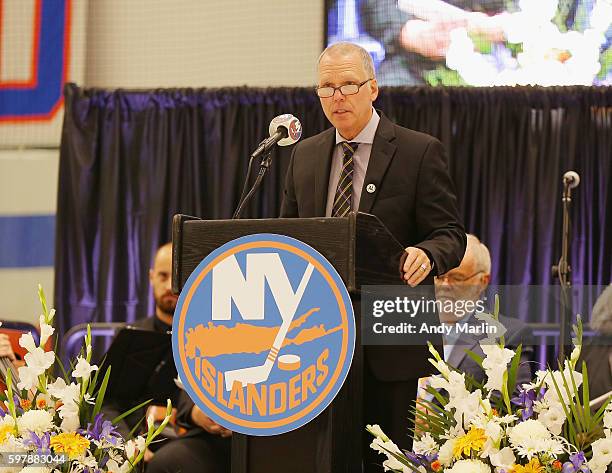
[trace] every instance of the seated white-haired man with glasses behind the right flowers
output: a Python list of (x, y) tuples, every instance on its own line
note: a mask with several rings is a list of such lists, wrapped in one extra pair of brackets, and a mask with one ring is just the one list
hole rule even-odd
[[(434, 279), (436, 286), (436, 299), (442, 302), (440, 320), (445, 324), (474, 324), (480, 325), (481, 321), (475, 317), (474, 312), (458, 313), (448, 311), (451, 307), (475, 307), (481, 300), (482, 295), (491, 280), (491, 256), (488, 248), (480, 242), (474, 235), (468, 234), (467, 248), (461, 264), (445, 274)], [(447, 311), (444, 311), (447, 309)], [(523, 344), (521, 352), (521, 362), (517, 375), (517, 386), (531, 382), (530, 361), (532, 360), (533, 347), (531, 343), (533, 334), (531, 329), (523, 321), (499, 316), (499, 322), (505, 327), (504, 334), (506, 347), (516, 349), (519, 344)], [(477, 381), (484, 380), (483, 369), (469, 356), (466, 350), (470, 350), (477, 355), (484, 357), (480, 347), (479, 338), (466, 335), (461, 339), (444, 340), (444, 359), (445, 361), (470, 374)]]

